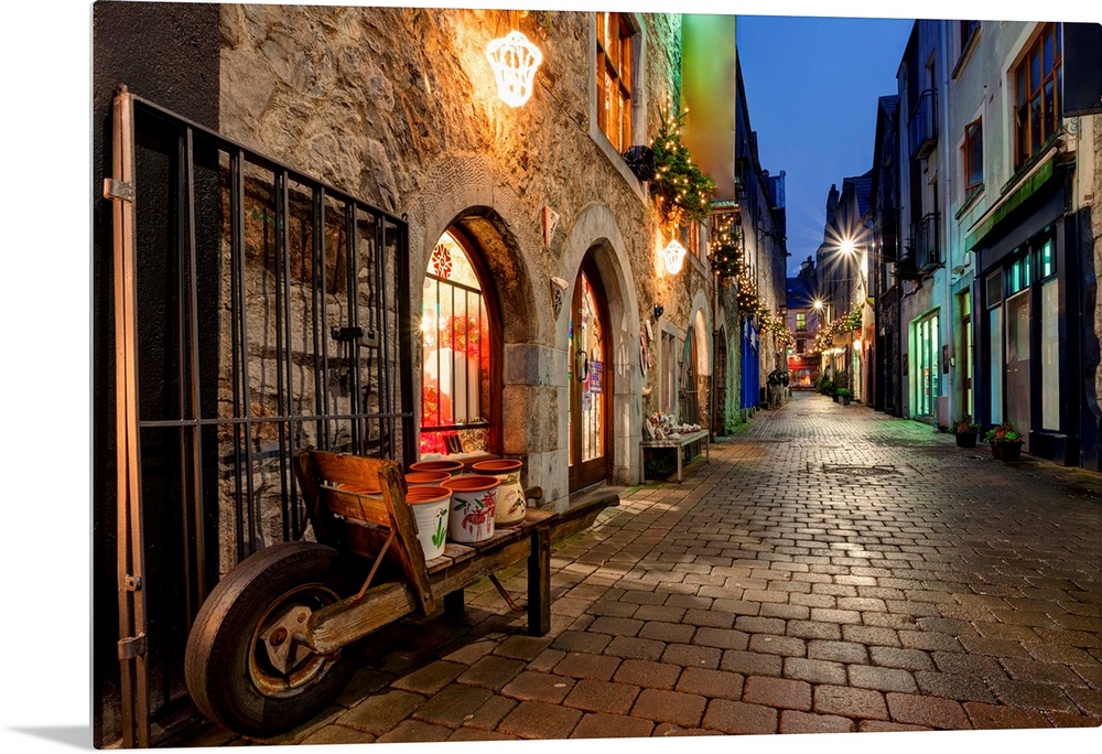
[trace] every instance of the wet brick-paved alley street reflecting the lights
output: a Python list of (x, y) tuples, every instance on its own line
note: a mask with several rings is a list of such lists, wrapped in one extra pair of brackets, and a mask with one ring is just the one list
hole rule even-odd
[(188, 745), (1102, 724), (1096, 474), (797, 394), (620, 495), (553, 551), (548, 636), (479, 583), (310, 723)]

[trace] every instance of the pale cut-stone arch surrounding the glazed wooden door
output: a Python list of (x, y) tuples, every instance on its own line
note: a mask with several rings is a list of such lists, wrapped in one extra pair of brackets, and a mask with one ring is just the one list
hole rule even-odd
[[(583, 209), (566, 231), (563, 243), (562, 262), (559, 274), (568, 281), (564, 300), (570, 301), (577, 280), (582, 260), (587, 254), (601, 277), (608, 308), (608, 324), (612, 336), (612, 369), (615, 375), (614, 395), (611, 410), (612, 470), (609, 478), (614, 484), (636, 484), (640, 477), (639, 441), (642, 432), (642, 405), (640, 397), (641, 373), (639, 369), (639, 297), (631, 277), (631, 261), (627, 244), (612, 211), (604, 204), (591, 204)], [(560, 313), (560, 317), (563, 314)], [(566, 397), (566, 327), (555, 328), (554, 348), (557, 354), (553, 381), (561, 406)], [(560, 410), (558, 448), (561, 454), (561, 474), (554, 491), (563, 503), (566, 494), (566, 470), (569, 464), (569, 441), (566, 413)]]

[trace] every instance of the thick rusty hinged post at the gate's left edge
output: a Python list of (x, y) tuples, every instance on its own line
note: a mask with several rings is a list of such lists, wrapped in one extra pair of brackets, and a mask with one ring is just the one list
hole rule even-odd
[[(116, 181), (136, 185), (133, 101), (126, 87), (115, 96), (111, 172)], [(142, 541), (142, 506), (138, 437), (138, 353), (134, 288), (137, 233), (131, 201), (111, 202), (115, 256), (115, 380), (116, 452), (118, 464), (118, 589), (120, 698), (122, 701), (122, 745), (150, 745), (149, 677), (144, 650), (125, 647), (145, 634), (145, 594)]]

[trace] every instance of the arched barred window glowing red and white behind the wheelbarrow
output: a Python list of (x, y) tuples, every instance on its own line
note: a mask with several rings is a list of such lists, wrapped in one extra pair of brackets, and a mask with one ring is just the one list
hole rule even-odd
[(496, 336), (473, 255), (445, 233), (421, 303), (421, 454), (493, 452)]

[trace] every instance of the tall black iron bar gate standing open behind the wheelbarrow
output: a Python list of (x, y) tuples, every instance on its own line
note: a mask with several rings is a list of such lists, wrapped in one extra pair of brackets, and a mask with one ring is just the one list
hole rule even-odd
[[(415, 459), (406, 223), (120, 87), (111, 179), (123, 745), (186, 722), (187, 629), (310, 537), (306, 448)], [(104, 440), (110, 441), (110, 438)]]

